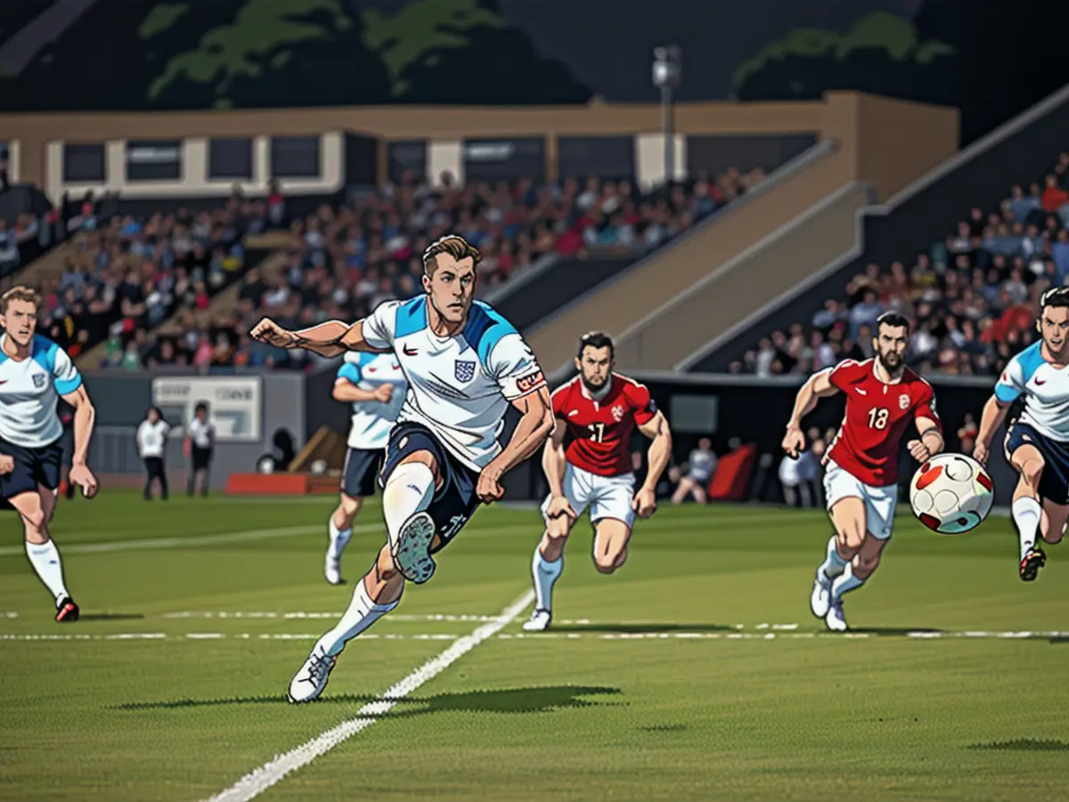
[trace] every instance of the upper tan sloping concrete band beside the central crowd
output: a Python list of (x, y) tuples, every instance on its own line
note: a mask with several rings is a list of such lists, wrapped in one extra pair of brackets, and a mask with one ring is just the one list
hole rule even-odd
[[(547, 372), (568, 370), (580, 334), (601, 329), (619, 337), (628, 333), (636, 322), (667, 307), (729, 265), (740, 253), (759, 246), (778, 229), (852, 184), (855, 173), (854, 155), (836, 143), (826, 143), (822, 152), (802, 166), (788, 167), (785, 174), (773, 174), (764, 186), (755, 188), (722, 214), (564, 307), (528, 333), (528, 342)], [(744, 266), (734, 268), (741, 275)], [(760, 283), (737, 283), (743, 295), (729, 298), (732, 304), (758, 308), (770, 295), (770, 290)], [(707, 317), (701, 322), (696, 345), (709, 339), (711, 321)], [(634, 367), (622, 360), (619, 365)]]

